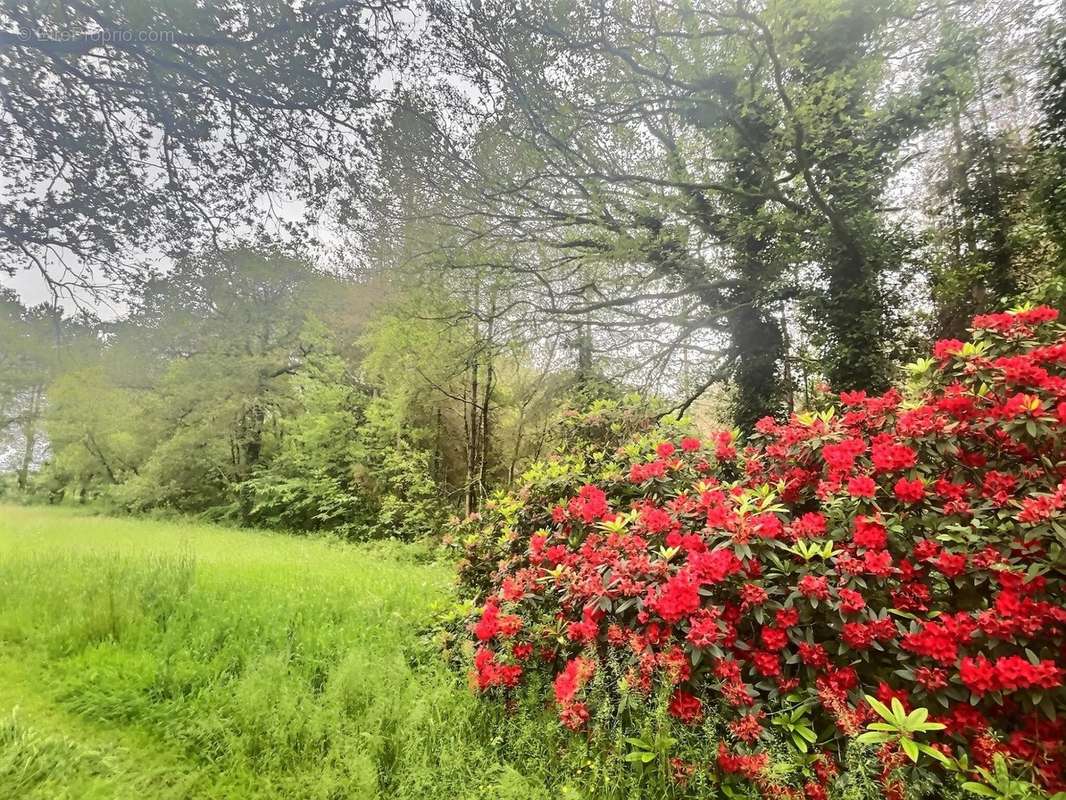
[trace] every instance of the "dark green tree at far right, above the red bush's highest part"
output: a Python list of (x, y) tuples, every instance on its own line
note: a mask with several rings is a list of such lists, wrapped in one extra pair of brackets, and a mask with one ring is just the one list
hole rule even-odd
[(1034, 68), (1034, 52), (1050, 55), (1040, 47), (1039, 18), (1033, 3), (978, 2), (950, 22), (975, 57), (951, 102), (949, 125), (931, 138), (936, 158), (926, 171), (930, 283), (940, 337), (962, 337), (975, 314), (1030, 295), (1059, 260), (1040, 202), (1045, 176), (1057, 180), (1053, 166), (1039, 163), (1047, 123), (1018, 113), (1041, 105), (1055, 82), (1040, 74), (1052, 69), (1053, 57), (1045, 69)]

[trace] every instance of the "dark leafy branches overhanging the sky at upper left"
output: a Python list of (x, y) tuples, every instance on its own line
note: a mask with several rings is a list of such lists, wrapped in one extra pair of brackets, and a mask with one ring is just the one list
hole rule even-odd
[(293, 222), (287, 198), (359, 194), (399, 5), (4, 3), (0, 269), (125, 284), (131, 251), (180, 257)]

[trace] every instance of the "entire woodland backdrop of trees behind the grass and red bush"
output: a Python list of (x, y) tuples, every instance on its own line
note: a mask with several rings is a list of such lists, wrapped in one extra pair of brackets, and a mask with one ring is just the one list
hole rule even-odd
[(415, 538), (568, 415), (750, 431), (1066, 298), (1053, 3), (0, 20), (13, 495)]

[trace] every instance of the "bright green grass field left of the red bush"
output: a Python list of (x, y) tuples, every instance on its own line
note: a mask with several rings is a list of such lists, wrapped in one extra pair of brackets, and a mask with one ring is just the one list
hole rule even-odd
[(558, 725), (516, 730), (419, 638), (450, 575), (399, 545), (0, 506), (0, 798), (569, 794)]

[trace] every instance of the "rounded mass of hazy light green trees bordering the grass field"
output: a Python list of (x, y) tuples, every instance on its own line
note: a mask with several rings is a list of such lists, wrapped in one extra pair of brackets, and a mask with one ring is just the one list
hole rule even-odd
[(33, 489), (349, 538), (434, 532), (430, 453), (359, 378), (370, 289), (277, 253), (181, 262), (50, 379)]

